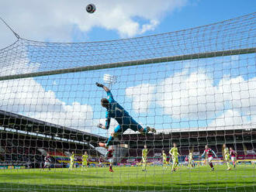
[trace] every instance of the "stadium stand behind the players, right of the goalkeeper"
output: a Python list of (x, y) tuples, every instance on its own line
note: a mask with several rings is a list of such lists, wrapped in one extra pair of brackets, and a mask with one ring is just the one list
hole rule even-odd
[[(168, 154), (172, 143), (178, 143), (178, 150), (181, 156), (179, 159), (184, 161), (185, 156), (189, 155), (189, 148), (194, 149), (195, 160), (199, 160), (205, 145), (209, 145), (216, 152), (217, 160), (223, 160), (223, 143), (228, 147), (233, 147), (237, 151), (237, 159), (240, 161), (256, 161), (256, 126), (250, 128), (245, 126), (225, 127), (215, 129), (166, 129), (158, 134), (134, 134), (128, 132), (119, 136), (119, 142), (130, 146), (126, 155), (121, 159), (121, 164), (136, 164), (141, 161), (141, 153), (144, 145), (147, 145), (149, 161), (162, 161), (161, 150), (164, 149)], [(157, 154), (157, 155), (156, 155)]]

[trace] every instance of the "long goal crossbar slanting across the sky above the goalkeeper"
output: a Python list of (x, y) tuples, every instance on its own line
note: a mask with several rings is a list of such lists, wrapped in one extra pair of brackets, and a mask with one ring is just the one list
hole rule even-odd
[(28, 77), (41, 77), (41, 76), (54, 75), (54, 74), (76, 73), (76, 72), (88, 71), (88, 70), (102, 70), (102, 69), (109, 69), (109, 68), (116, 68), (116, 67), (130, 67), (130, 66), (145, 65), (145, 64), (152, 64), (152, 63), (164, 63), (164, 62), (171, 62), (171, 61), (178, 61), (178, 60), (196, 60), (196, 59), (204, 59), (204, 58), (210, 58), (210, 57), (224, 57), (224, 56), (249, 54), (249, 53), (256, 53), (256, 47), (239, 49), (239, 50), (223, 50), (223, 51), (206, 52), (206, 53), (193, 53), (193, 54), (187, 54), (187, 55), (181, 55), (181, 56), (160, 57), (160, 58), (153, 58), (153, 59), (147, 59), (147, 60), (134, 60), (134, 61), (126, 61), (126, 62), (118, 62), (118, 63), (104, 63), (99, 65), (85, 66), (85, 67), (74, 67), (74, 68), (67, 68), (67, 69), (61, 69), (61, 70), (47, 70), (42, 72), (33, 72), (29, 74), (14, 74), (14, 75), (0, 77), (0, 81), (14, 80), (14, 79), (21, 79), (21, 78), (28, 78)]

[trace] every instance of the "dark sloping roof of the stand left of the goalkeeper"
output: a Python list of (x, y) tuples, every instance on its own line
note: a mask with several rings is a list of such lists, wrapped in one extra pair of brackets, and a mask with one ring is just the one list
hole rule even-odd
[(97, 142), (105, 141), (106, 137), (71, 129), (49, 122), (43, 122), (35, 118), (29, 118), (9, 111), (0, 110), (0, 126), (15, 129), (22, 132), (33, 132), (35, 134), (50, 135), (61, 139), (72, 139), (80, 142), (91, 142), (96, 146)]

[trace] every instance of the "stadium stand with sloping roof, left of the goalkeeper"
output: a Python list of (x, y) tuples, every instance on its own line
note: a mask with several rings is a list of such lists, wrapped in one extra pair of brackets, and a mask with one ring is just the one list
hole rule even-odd
[(8, 111), (0, 111), (0, 126), (0, 168), (42, 167), (43, 158), (47, 153), (50, 153), (52, 166), (66, 167), (71, 151), (77, 156), (81, 156), (85, 150), (89, 156), (100, 156), (95, 146), (98, 142), (106, 140), (100, 135)]

